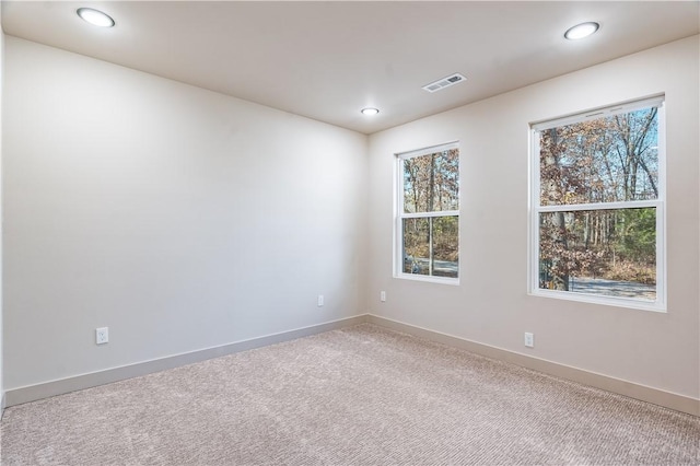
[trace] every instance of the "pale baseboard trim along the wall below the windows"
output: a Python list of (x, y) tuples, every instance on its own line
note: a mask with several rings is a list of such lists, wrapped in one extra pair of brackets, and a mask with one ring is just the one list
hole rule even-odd
[(417, 327), (410, 324), (404, 324), (390, 318), (381, 317), (374, 314), (366, 315), (366, 322), (380, 325), (392, 330), (402, 331), (427, 340), (435, 341), (446, 346), (465, 349), (477, 354), (500, 361), (510, 362), (545, 374), (578, 382), (592, 387), (612, 392), (618, 395), (629, 396), (630, 398), (640, 399), (642, 401), (652, 403), (676, 411), (687, 412), (693, 416), (700, 416), (700, 399), (691, 398), (685, 395), (678, 395), (665, 392), (658, 388), (652, 388), (645, 385), (635, 384), (620, 378), (610, 377), (608, 375), (597, 374), (595, 372), (584, 371), (582, 369), (572, 368), (552, 361), (547, 361), (530, 356), (491, 347), (464, 338), (455, 337), (440, 331)]

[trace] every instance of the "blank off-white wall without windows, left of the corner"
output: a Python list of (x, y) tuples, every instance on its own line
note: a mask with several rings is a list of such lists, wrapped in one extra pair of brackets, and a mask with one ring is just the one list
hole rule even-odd
[(364, 135), (5, 49), (7, 389), (364, 312)]

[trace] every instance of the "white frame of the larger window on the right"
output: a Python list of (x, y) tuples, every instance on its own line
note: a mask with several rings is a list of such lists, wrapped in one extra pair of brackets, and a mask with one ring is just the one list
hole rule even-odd
[[(528, 293), (536, 296), (555, 298), (585, 303), (630, 307), (644, 311), (666, 312), (666, 117), (664, 95), (610, 105), (590, 112), (569, 115), (561, 118), (530, 124), (530, 196), (529, 196), (529, 257), (528, 257)], [(658, 119), (658, 197), (652, 200), (579, 203), (561, 206), (540, 206), (540, 148), (539, 132), (553, 127), (565, 126), (614, 116), (648, 107), (657, 108)], [(631, 298), (605, 296), (573, 291), (559, 291), (539, 288), (539, 214), (545, 212), (572, 212), (581, 210), (615, 210), (621, 208), (656, 209), (656, 300), (646, 301)]]

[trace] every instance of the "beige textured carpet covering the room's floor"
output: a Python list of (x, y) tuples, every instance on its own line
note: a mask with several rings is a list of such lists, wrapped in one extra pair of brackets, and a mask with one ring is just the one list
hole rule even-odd
[(372, 325), (7, 409), (2, 465), (698, 465), (700, 418)]

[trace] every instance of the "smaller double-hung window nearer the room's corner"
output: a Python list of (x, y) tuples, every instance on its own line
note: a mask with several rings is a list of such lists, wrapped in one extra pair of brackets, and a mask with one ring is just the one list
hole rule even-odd
[(397, 159), (396, 275), (457, 283), (459, 149), (452, 143)]

